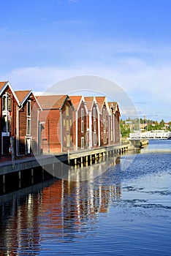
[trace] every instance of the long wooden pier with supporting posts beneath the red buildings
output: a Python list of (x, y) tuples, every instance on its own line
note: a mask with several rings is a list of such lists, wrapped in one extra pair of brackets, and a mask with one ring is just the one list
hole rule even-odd
[(16, 159), (15, 161), (0, 162), (0, 176), (2, 184), (6, 184), (6, 176), (12, 173), (16, 173), (18, 180), (22, 178), (21, 173), (29, 172), (31, 176), (34, 176), (34, 171), (37, 167), (42, 170), (42, 176), (44, 176), (45, 170), (50, 170), (50, 174), (55, 173), (56, 164), (62, 166), (66, 164), (68, 166), (88, 166), (96, 164), (97, 161), (106, 161), (109, 157), (119, 157), (121, 154), (126, 153), (129, 150), (129, 143), (116, 146), (106, 146), (101, 148), (86, 149), (75, 152), (59, 153), (59, 154), (42, 154), (36, 157), (28, 157), (23, 159)]

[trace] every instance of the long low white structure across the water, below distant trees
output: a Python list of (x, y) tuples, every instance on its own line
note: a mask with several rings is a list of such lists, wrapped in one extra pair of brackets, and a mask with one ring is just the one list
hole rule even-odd
[(171, 132), (164, 130), (152, 130), (148, 132), (131, 132), (129, 138), (132, 139), (171, 139)]

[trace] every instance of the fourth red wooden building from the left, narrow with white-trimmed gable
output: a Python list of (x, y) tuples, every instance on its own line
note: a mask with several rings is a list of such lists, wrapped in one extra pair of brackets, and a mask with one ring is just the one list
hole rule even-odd
[(69, 96), (75, 108), (73, 112), (73, 146), (74, 150), (88, 148), (88, 109), (83, 96)]

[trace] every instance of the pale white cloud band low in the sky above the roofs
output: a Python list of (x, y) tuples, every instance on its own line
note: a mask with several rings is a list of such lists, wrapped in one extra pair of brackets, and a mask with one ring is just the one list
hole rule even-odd
[[(136, 58), (124, 58), (115, 61), (113, 65), (82, 64), (79, 67), (24, 67), (14, 69), (12, 72), (1, 76), (1, 80), (9, 80), (14, 89), (33, 89), (33, 91), (45, 91), (49, 86), (60, 80), (79, 75), (95, 75), (117, 83), (126, 92), (133, 102), (137, 103), (140, 112), (151, 115), (163, 114), (171, 120), (170, 116), (170, 64), (149, 65), (145, 61)], [(81, 89), (86, 89), (83, 84)], [(94, 86), (91, 87), (94, 90)], [(68, 91), (75, 90), (69, 85)], [(63, 93), (64, 88), (58, 88), (58, 94)], [(101, 88), (102, 91), (102, 88)], [(105, 91), (105, 89), (104, 89)], [(110, 95), (110, 91), (106, 91)], [(115, 92), (114, 92), (115, 94)]]

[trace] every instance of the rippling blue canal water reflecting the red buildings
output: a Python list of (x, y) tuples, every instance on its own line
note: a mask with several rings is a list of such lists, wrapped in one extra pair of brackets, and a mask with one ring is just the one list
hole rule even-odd
[(1, 195), (0, 255), (171, 255), (170, 149), (150, 140), (96, 178)]

